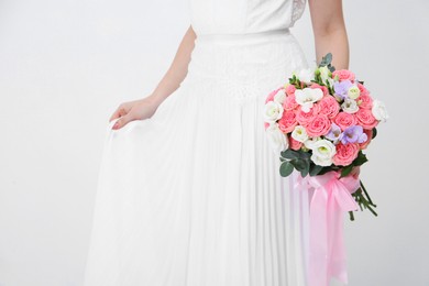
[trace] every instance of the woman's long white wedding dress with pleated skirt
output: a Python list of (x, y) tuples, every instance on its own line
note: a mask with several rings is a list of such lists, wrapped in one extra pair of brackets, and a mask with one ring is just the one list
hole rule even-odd
[(107, 127), (85, 286), (306, 285), (308, 198), (280, 177), (267, 94), (306, 67), (304, 0), (190, 0), (188, 75)]

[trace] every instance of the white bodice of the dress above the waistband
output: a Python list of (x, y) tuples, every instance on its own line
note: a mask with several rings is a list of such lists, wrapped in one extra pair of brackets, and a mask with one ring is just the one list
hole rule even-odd
[(301, 16), (306, 0), (190, 0), (197, 34), (244, 34), (286, 29)]

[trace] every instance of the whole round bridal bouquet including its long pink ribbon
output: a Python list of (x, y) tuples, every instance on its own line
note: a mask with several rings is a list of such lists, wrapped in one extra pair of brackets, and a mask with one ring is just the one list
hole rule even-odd
[(346, 69), (336, 70), (332, 55), (316, 69), (294, 74), (265, 100), (264, 127), (279, 153), (280, 176), (294, 173), (295, 186), (312, 190), (309, 213), (309, 285), (346, 283), (342, 213), (363, 207), (373, 215), (359, 168), (365, 148), (388, 119), (385, 105), (372, 98), (363, 81)]

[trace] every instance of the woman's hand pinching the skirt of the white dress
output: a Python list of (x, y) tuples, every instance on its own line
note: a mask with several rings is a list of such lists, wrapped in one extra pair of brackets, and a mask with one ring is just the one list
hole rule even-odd
[(155, 113), (158, 105), (160, 103), (157, 103), (151, 97), (123, 102), (110, 117), (109, 122), (119, 118), (112, 129), (121, 129), (130, 121), (142, 120), (152, 117)]

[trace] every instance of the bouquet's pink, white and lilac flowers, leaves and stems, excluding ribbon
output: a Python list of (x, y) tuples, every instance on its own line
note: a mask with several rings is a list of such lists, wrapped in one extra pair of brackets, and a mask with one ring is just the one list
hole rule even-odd
[[(373, 99), (363, 81), (346, 69), (336, 70), (328, 54), (316, 69), (294, 74), (265, 101), (265, 131), (279, 152), (282, 176), (297, 169), (302, 177), (330, 170), (351, 174), (367, 158), (363, 151), (388, 119), (385, 105)], [(353, 193), (375, 216), (376, 207), (362, 182)], [(353, 220), (353, 213), (350, 212)]]

